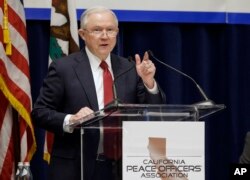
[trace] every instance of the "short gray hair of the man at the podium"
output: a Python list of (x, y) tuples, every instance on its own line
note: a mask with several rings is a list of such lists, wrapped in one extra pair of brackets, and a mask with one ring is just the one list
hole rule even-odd
[(110, 9), (108, 9), (106, 7), (102, 7), (102, 6), (92, 7), (92, 8), (86, 9), (81, 15), (81, 18), (80, 18), (81, 25), (80, 25), (80, 27), (82, 29), (86, 28), (87, 23), (88, 23), (88, 17), (89, 17), (90, 14), (102, 13), (102, 12), (110, 12), (114, 16), (115, 23), (116, 23), (116, 25), (118, 27), (118, 18), (115, 15), (115, 13), (112, 10), (110, 10)]

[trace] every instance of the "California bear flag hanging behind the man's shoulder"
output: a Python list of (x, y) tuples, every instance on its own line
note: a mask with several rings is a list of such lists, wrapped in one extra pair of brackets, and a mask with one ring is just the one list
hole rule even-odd
[[(75, 4), (75, 0), (52, 0), (49, 64), (62, 56), (79, 51)], [(46, 132), (43, 159), (48, 163), (52, 145), (53, 134)]]

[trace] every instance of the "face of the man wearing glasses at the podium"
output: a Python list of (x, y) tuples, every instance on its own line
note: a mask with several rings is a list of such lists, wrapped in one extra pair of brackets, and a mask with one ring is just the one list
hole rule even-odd
[(118, 32), (118, 27), (110, 12), (93, 13), (88, 17), (86, 29), (80, 29), (79, 35), (85, 41), (89, 50), (95, 56), (104, 60), (116, 44), (117, 34), (114, 36), (108, 35), (108, 31), (113, 30)]

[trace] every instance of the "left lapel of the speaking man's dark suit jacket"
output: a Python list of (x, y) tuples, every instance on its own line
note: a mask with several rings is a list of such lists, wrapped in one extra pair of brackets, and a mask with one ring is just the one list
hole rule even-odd
[(75, 67), (75, 72), (79, 81), (82, 84), (88, 102), (93, 110), (98, 110), (98, 101), (96, 96), (96, 89), (93, 79), (93, 74), (91, 71), (90, 63), (85, 51), (81, 51), (81, 56), (77, 58), (79, 62)]

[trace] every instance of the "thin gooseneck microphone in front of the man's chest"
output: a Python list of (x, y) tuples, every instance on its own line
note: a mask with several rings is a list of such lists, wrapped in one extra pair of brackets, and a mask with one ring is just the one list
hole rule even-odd
[[(133, 58), (131, 56), (128, 57), (128, 61), (133, 63)], [(116, 91), (116, 81), (117, 79), (119, 79), (121, 76), (123, 76), (124, 74), (126, 74), (127, 72), (131, 71), (133, 68), (135, 68), (135, 64), (133, 63), (132, 66), (130, 66), (128, 69), (126, 69), (125, 71), (121, 72), (120, 74), (118, 74), (117, 76), (114, 77), (113, 80), (113, 95), (114, 95), (114, 100), (111, 101), (110, 103), (108, 103), (107, 105), (105, 105), (104, 107), (104, 111), (108, 111), (114, 107), (118, 107), (118, 105), (121, 103), (121, 101), (118, 99), (117, 97), (117, 91)]]

